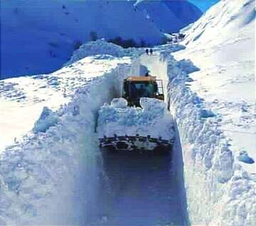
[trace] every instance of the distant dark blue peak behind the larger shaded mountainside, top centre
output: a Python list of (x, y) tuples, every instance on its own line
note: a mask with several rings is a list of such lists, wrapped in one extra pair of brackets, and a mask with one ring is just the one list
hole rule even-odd
[(200, 9), (189, 1), (139, 0), (136, 1), (135, 6), (165, 33), (176, 33), (202, 15)]

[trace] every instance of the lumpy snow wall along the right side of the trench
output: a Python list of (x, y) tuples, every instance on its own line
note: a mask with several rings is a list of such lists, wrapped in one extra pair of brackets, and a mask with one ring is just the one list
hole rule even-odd
[(169, 101), (183, 149), (188, 213), (192, 225), (255, 225), (256, 178), (234, 159), (215, 115), (187, 85), (199, 70), (190, 60), (162, 52)]

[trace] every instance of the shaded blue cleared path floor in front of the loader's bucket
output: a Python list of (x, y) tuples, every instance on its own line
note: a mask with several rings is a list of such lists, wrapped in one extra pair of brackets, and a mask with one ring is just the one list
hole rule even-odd
[(98, 208), (86, 225), (186, 225), (179, 148), (177, 140), (169, 156), (105, 153)]

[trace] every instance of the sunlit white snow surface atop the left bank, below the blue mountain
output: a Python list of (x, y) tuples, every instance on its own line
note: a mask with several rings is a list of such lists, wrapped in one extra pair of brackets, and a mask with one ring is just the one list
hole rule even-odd
[[(90, 44), (93, 45), (93, 44)], [(95, 43), (97, 46), (97, 42)], [(107, 45), (110, 48), (115, 45)], [(97, 52), (97, 47), (93, 48)], [(99, 48), (100, 49), (100, 48)], [(119, 49), (119, 51), (121, 51)], [(84, 54), (92, 55), (91, 49)], [(98, 50), (100, 53), (100, 50)], [(113, 52), (113, 50), (112, 50)], [(78, 57), (74, 58), (78, 59)], [(111, 55), (91, 56), (53, 72), (49, 75), (34, 75), (10, 78), (0, 82), (0, 151), (14, 139), (21, 139), (33, 128), (44, 106), (58, 109), (61, 104), (70, 102), (75, 90), (85, 85), (94, 77), (111, 72), (119, 63), (126, 63), (126, 58), (114, 58)], [(25, 123), (24, 123), (25, 122)]]

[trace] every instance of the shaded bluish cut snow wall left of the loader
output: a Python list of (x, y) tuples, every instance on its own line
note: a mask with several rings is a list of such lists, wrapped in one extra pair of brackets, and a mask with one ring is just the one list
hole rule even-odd
[[(75, 92), (70, 103), (48, 112), (46, 120), (38, 120), (46, 123), (57, 117), (57, 122), (49, 120), (53, 124), (47, 124), (45, 132), (34, 129), (1, 154), (0, 225), (75, 225), (85, 221), (100, 173), (96, 167), (97, 111), (120, 92), (130, 69), (129, 64), (120, 64), (93, 78)], [(69, 202), (66, 207), (65, 200)]]

